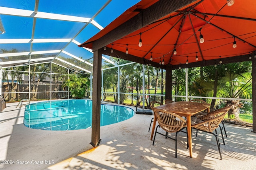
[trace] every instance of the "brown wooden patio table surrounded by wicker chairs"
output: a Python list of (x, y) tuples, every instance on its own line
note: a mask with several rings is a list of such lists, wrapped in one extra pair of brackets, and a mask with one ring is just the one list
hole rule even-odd
[[(187, 127), (188, 127), (188, 146), (189, 154), (192, 158), (192, 135), (191, 135), (191, 116), (207, 109), (207, 112), (210, 112), (210, 104), (208, 103), (198, 103), (198, 102), (172, 102), (170, 104), (164, 104), (161, 106), (154, 107), (155, 109), (168, 110), (173, 113), (176, 113), (180, 116), (185, 116), (187, 118)], [(156, 114), (154, 114), (154, 122), (152, 126), (151, 138), (152, 141), (154, 136), (154, 130), (156, 127)]]

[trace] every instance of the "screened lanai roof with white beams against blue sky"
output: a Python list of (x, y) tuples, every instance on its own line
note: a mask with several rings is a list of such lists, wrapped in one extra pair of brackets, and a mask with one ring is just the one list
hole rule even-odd
[[(0, 68), (52, 62), (90, 73), (92, 50), (78, 45), (137, 2), (2, 0), (0, 49), (5, 52), (0, 51)], [(110, 62), (107, 56), (103, 60)]]

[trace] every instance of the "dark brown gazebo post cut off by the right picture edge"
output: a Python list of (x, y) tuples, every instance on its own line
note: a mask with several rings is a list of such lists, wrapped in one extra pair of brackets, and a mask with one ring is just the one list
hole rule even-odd
[(252, 131), (256, 133), (256, 58), (252, 57)]

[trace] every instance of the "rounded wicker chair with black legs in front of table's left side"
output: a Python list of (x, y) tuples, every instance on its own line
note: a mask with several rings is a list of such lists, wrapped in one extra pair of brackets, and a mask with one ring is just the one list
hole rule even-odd
[[(170, 111), (166, 111), (166, 110), (162, 110), (162, 109), (155, 109), (154, 114), (156, 114), (158, 126), (156, 127), (153, 145), (154, 145), (154, 142), (156, 139), (156, 133), (165, 136), (166, 139), (170, 138), (170, 139), (174, 140), (175, 141), (175, 158), (177, 158), (177, 134), (185, 128), (187, 130), (185, 119), (183, 119), (181, 116), (177, 115), (176, 113), (172, 113)], [(167, 133), (176, 133), (175, 139), (173, 139), (167, 135), (164, 135), (162, 133), (159, 133), (157, 131), (158, 127), (161, 127), (164, 131), (166, 131), (166, 134)], [(188, 136), (187, 136), (187, 149), (188, 149)]]

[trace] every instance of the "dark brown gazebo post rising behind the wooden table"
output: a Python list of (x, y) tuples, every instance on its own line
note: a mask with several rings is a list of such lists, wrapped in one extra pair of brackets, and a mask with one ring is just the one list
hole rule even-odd
[(165, 99), (172, 100), (172, 65), (166, 65), (165, 70)]

